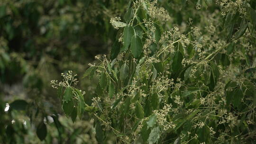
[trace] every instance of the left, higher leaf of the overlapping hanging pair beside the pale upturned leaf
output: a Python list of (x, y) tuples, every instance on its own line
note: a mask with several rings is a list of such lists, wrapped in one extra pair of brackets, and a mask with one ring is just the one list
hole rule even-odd
[(124, 28), (123, 41), (124, 41), (124, 49), (128, 50), (128, 47), (131, 43), (132, 36), (134, 36), (134, 28), (130, 25), (127, 25)]

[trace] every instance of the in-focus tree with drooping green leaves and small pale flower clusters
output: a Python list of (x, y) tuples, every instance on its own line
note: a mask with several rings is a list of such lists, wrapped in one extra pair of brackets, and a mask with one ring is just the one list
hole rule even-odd
[(130, 0), (123, 20), (111, 18), (110, 59), (96, 56), (84, 73), (99, 80), (91, 104), (71, 72), (52, 81), (66, 116), (88, 112), (99, 143), (255, 143), (256, 3), (166, 3)]

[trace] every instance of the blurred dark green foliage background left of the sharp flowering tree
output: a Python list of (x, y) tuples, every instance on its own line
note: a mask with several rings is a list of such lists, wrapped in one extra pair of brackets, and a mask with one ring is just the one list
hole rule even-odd
[[(89, 118), (73, 124), (63, 117), (50, 81), (68, 70), (81, 80), (95, 55), (109, 53), (116, 35), (110, 18), (122, 13), (126, 3), (0, 0), (0, 144), (97, 143)], [(78, 87), (87, 91), (93, 85), (80, 81)], [(42, 121), (47, 137), (41, 142)]]

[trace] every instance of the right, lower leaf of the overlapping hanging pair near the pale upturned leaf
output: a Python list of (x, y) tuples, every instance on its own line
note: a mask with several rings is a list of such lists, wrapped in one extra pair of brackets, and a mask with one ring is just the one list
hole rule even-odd
[(135, 58), (138, 58), (143, 51), (141, 39), (138, 36), (133, 36), (131, 39), (131, 52)]

